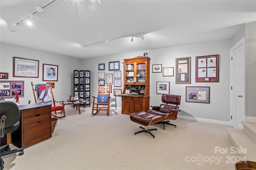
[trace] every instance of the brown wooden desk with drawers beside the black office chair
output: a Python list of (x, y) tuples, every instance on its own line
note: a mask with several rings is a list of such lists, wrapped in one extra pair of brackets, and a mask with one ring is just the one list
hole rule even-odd
[(50, 104), (36, 103), (18, 107), (20, 125), (12, 134), (14, 145), (26, 148), (52, 137)]

